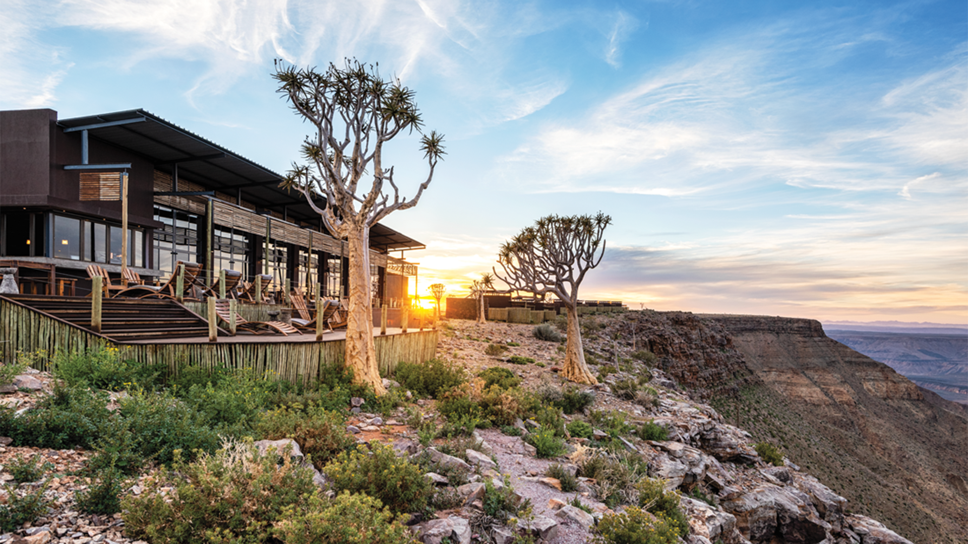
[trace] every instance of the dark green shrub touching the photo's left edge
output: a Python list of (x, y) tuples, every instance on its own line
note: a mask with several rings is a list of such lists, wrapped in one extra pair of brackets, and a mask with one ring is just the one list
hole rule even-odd
[(91, 447), (110, 415), (107, 396), (79, 387), (55, 386), (53, 394), (17, 416), (0, 408), (0, 436), (15, 446), (72, 449)]

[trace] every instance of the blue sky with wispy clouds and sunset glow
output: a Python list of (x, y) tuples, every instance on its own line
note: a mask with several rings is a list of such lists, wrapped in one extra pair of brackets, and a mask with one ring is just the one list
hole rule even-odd
[[(0, 107), (143, 107), (282, 172), (307, 129), (273, 59), (355, 56), (447, 137), (385, 221), (427, 244), (421, 291), (601, 210), (585, 298), (968, 322), (965, 2), (737, 4), (0, 0)], [(411, 193), (416, 148), (387, 155)]]

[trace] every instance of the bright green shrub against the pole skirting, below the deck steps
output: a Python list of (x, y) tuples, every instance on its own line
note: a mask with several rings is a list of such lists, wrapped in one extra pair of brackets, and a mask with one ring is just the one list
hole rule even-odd
[(71, 386), (123, 391), (139, 385), (153, 387), (165, 376), (166, 365), (122, 360), (118, 348), (99, 345), (82, 351), (57, 350), (50, 358), (51, 373)]

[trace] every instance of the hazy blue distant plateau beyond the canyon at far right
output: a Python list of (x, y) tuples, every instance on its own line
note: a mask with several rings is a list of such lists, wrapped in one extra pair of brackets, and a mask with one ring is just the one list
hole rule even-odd
[(827, 336), (925, 389), (968, 404), (968, 327), (902, 321), (826, 321)]

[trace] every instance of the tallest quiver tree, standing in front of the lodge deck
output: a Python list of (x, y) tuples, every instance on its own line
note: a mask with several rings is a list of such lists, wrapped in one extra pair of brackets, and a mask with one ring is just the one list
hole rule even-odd
[(305, 163), (292, 164), (283, 186), (298, 190), (333, 236), (347, 240), (346, 363), (356, 382), (372, 385), (382, 394), (373, 342), (370, 227), (394, 211), (417, 204), (444, 154), (443, 136), (436, 132), (421, 136), (420, 150), (430, 171), (412, 198), (402, 197), (393, 166), (383, 166), (382, 152), (383, 144), (395, 136), (420, 132), (423, 123), (413, 91), (399, 80), (383, 80), (373, 65), (356, 60), (347, 60), (342, 68), (331, 63), (324, 72), (276, 61), (272, 76), (289, 106), (316, 130), (303, 141)]

